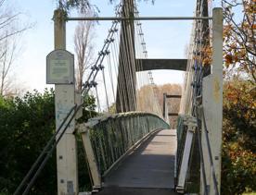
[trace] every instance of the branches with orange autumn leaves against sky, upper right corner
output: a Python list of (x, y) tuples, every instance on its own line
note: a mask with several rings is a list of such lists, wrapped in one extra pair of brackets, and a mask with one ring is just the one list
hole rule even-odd
[(256, 83), (255, 0), (223, 0), (224, 62)]

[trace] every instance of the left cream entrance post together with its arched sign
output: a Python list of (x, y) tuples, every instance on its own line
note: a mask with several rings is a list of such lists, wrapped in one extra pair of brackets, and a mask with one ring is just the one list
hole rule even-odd
[[(63, 119), (75, 104), (73, 55), (65, 51), (66, 20), (63, 10), (55, 10), (54, 32), (55, 51), (47, 55), (46, 82), (55, 84), (56, 129), (58, 129)], [(64, 124), (63, 128), (65, 126), (66, 124)], [(78, 194), (77, 153), (76, 140), (73, 135), (74, 128), (75, 121), (73, 119), (57, 145), (58, 195)], [(63, 132), (63, 129), (60, 130), (59, 134), (61, 132)]]

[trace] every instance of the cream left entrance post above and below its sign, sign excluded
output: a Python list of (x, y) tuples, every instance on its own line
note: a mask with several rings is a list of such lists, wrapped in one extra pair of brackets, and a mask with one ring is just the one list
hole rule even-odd
[[(66, 49), (65, 13), (60, 9), (55, 10), (54, 13), (54, 40), (55, 49)], [(74, 106), (74, 91), (74, 83), (55, 85), (57, 129), (69, 113), (70, 108)], [(76, 140), (72, 134), (74, 128), (75, 121), (73, 119), (57, 146), (58, 195), (78, 194)]]

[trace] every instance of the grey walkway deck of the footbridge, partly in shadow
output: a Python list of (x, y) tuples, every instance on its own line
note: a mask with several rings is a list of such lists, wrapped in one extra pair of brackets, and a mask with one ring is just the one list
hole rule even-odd
[(100, 194), (172, 194), (175, 150), (176, 131), (160, 130), (105, 178)]

